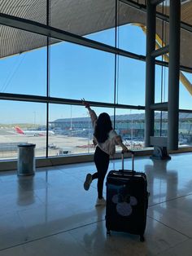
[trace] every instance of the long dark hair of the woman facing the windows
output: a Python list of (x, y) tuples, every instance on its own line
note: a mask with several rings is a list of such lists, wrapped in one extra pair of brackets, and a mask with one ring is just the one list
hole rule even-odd
[(94, 128), (94, 137), (98, 140), (98, 143), (103, 143), (108, 139), (110, 130), (112, 130), (112, 123), (109, 115), (101, 113)]

